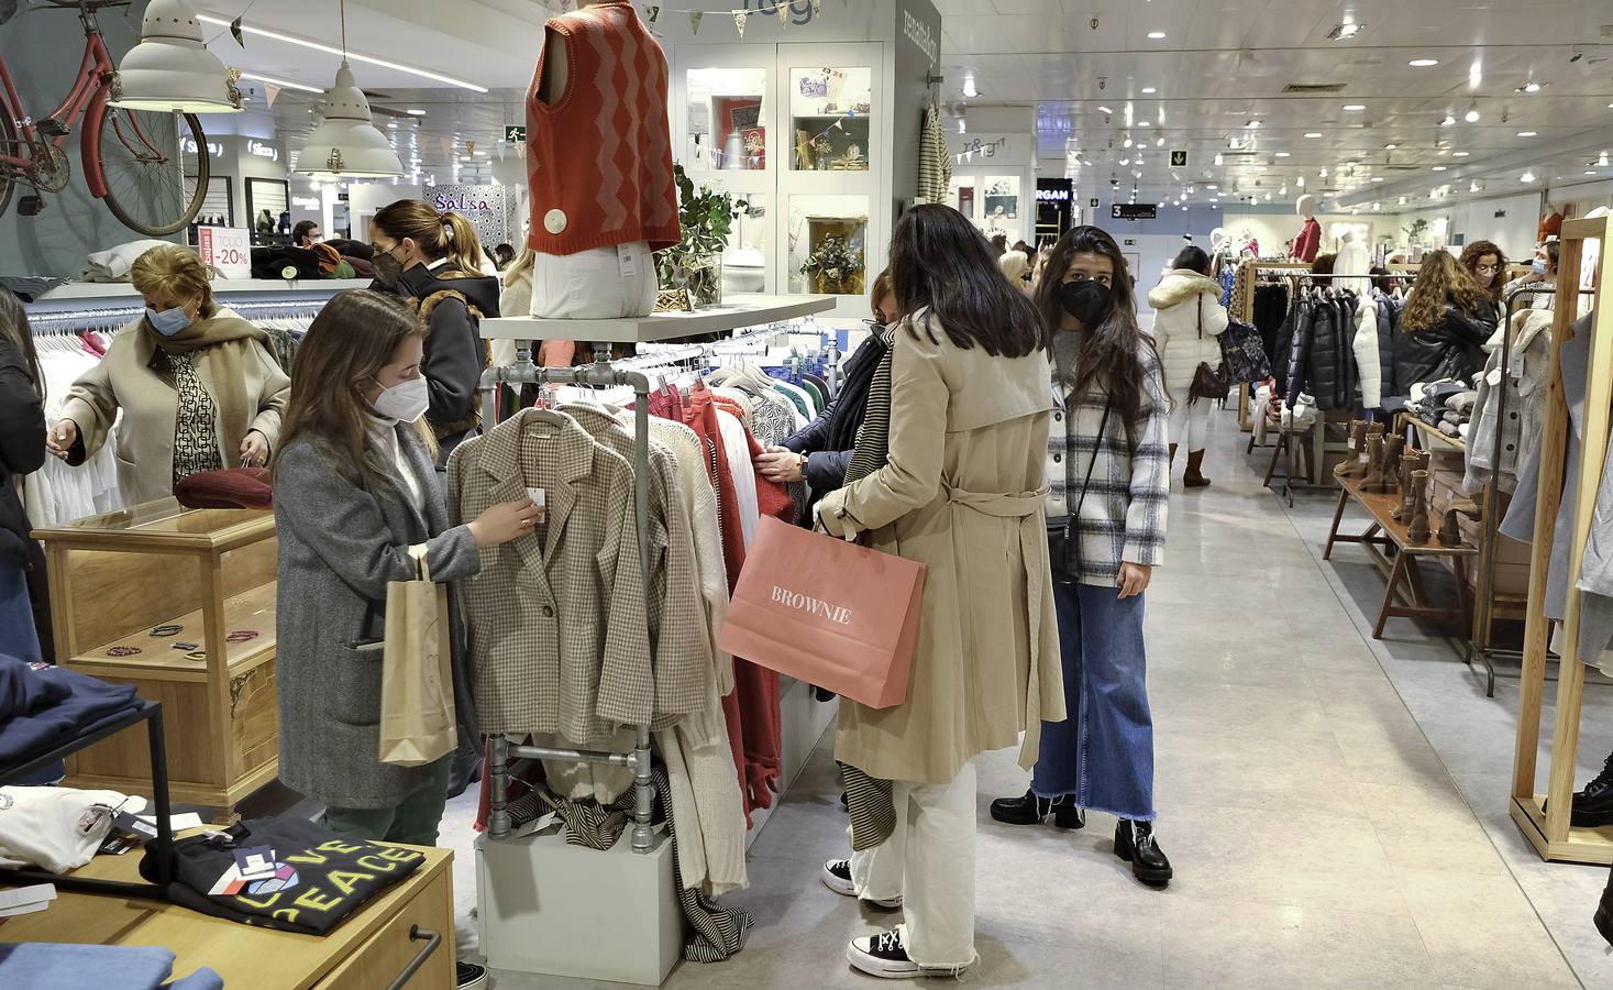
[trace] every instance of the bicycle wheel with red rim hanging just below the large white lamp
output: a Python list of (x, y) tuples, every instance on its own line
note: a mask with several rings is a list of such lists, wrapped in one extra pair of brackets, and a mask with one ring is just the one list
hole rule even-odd
[(206, 195), (206, 136), (194, 113), (108, 107), (98, 165), (106, 208), (148, 237), (182, 231)]

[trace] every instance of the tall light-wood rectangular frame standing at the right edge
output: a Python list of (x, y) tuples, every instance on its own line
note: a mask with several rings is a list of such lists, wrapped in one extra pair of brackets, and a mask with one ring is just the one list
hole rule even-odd
[(1563, 344), (1573, 338), (1576, 307), (1558, 305), (1552, 338), (1550, 391), (1545, 431), (1540, 439), (1540, 483), (1536, 501), (1532, 559), (1529, 564), (1529, 619), (1524, 630), (1523, 673), (1518, 691), (1518, 740), (1513, 753), (1513, 783), (1508, 811), (1524, 838), (1542, 859), (1568, 862), (1613, 862), (1613, 827), (1574, 828), (1569, 811), (1574, 795), (1574, 761), (1579, 754), (1579, 711), (1584, 701), (1586, 667), (1579, 657), (1578, 577), (1586, 560), (1590, 522), (1597, 509), (1602, 472), (1607, 470), (1610, 405), (1613, 405), (1613, 312), (1602, 305), (1603, 286), (1613, 273), (1613, 221), (1608, 218), (1563, 223), (1558, 263), (1558, 299), (1579, 292), (1578, 278), (1587, 241), (1595, 242), (1595, 292), (1590, 318), (1590, 362), (1586, 380), (1586, 422), (1581, 438), (1579, 488), (1574, 502), (1573, 543), (1568, 560), (1568, 609), (1560, 640), (1555, 725), (1545, 793), (1536, 791), (1540, 722), (1545, 704), (1545, 669), (1552, 620), (1545, 617), (1545, 589), (1557, 538), (1557, 515), (1563, 504), (1566, 476), (1568, 404), (1563, 389)]

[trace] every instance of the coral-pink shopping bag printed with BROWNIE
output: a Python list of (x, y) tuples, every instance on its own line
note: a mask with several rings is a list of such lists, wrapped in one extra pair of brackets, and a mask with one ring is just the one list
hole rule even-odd
[(907, 701), (924, 565), (763, 517), (718, 648), (869, 707)]

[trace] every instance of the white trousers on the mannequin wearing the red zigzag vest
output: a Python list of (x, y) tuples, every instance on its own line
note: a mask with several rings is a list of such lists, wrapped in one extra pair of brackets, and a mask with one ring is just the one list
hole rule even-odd
[[(632, 275), (623, 275), (623, 258)], [(542, 320), (648, 317), (656, 289), (655, 255), (644, 241), (532, 260), (532, 315)]]

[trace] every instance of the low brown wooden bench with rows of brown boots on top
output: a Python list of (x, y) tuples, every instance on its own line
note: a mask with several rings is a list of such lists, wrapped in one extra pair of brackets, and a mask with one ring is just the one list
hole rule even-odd
[[(1392, 617), (1402, 619), (1452, 619), (1463, 622), (1466, 628), (1471, 609), (1468, 593), (1468, 557), (1476, 557), (1479, 549), (1463, 543), (1461, 546), (1440, 546), (1436, 538), (1426, 544), (1413, 544), (1407, 539), (1407, 526), (1397, 522), (1389, 512), (1400, 504), (1400, 494), (1373, 494), (1361, 491), (1363, 478), (1339, 478), (1339, 509), (1332, 514), (1332, 528), (1327, 531), (1327, 547), (1321, 559), (1332, 559), (1332, 544), (1358, 543), (1373, 564), (1381, 570), (1389, 583), (1384, 588), (1384, 604), (1378, 609), (1378, 623), (1373, 627), (1373, 638), (1384, 638), (1384, 623)], [(1373, 517), (1373, 523), (1360, 535), (1340, 535), (1339, 523), (1344, 520), (1344, 509), (1350, 501), (1360, 502), (1361, 509)], [(1434, 530), (1437, 530), (1437, 523)], [(1457, 588), (1460, 606), (1455, 609), (1436, 609), (1428, 604), (1428, 593), (1423, 589), (1423, 573), (1418, 570), (1418, 559), (1448, 559), (1457, 567)], [(1400, 585), (1405, 583), (1407, 604), (1400, 604)]]

